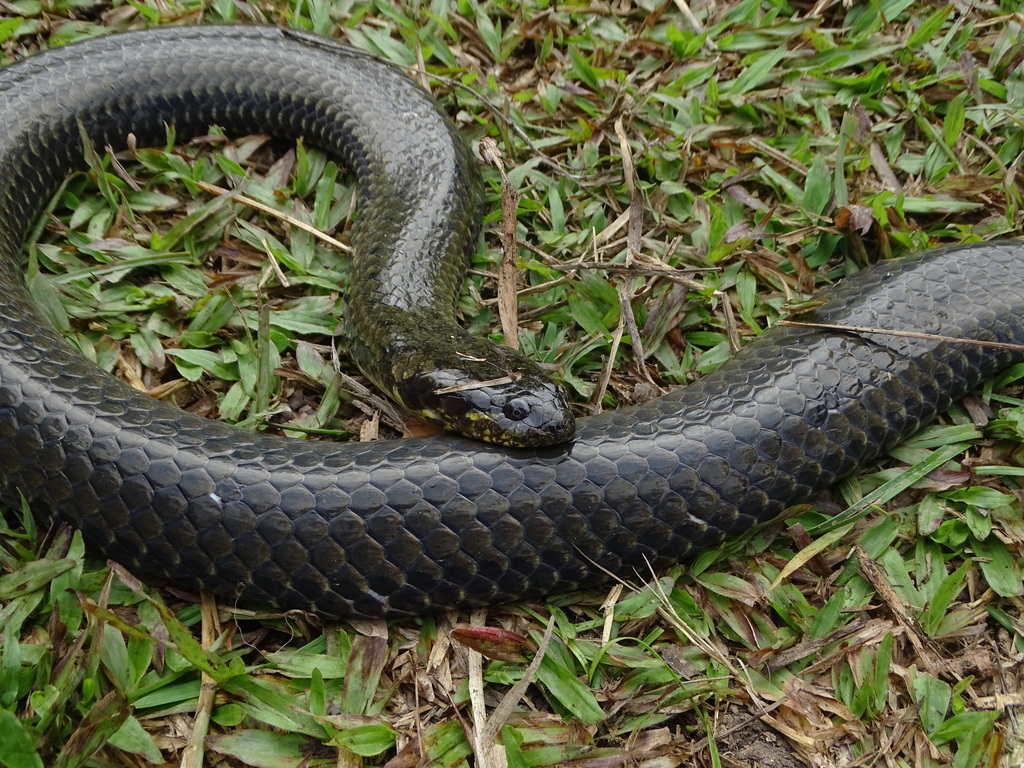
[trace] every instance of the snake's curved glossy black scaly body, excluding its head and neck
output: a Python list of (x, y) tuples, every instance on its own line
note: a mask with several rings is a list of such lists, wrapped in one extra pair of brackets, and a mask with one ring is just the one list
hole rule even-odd
[(338, 620), (649, 575), (778, 519), (1024, 359), (1012, 346), (1024, 247), (973, 243), (866, 267), (698, 381), (581, 418), (550, 444), (342, 443), (206, 420), (76, 351), (34, 303), (20, 256), (82, 166), (83, 133), (116, 150), (162, 142), (168, 124), (301, 138), (353, 170), (350, 293), (369, 297), (354, 315), (450, 302), (424, 298), (435, 283), (421, 278), (440, 253), (459, 280), (479, 194), (464, 139), (423, 89), (309, 33), (162, 28), (0, 71), (0, 493), (181, 589)]

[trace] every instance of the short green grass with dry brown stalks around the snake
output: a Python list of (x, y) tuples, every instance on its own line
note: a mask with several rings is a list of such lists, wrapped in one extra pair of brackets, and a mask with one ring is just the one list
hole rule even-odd
[[(8, 0), (0, 60), (257, 18), (422, 62), (467, 138), (497, 142), (519, 341), (581, 413), (690, 381), (877, 258), (1020, 233), (1019, 4), (744, 0), (696, 26), (681, 7)], [(172, 146), (127, 170), (97, 156), (65, 186), (28, 250), (47, 315), (203, 415), (357, 434), (383, 408), (406, 429), (335, 365), (344, 257), (201, 186), (343, 232), (343, 169), (261, 137)], [(485, 173), (461, 307), (497, 336)], [(217, 609), (6, 510), (0, 765), (1020, 765), (1020, 374), (685, 571), (472, 614)]]

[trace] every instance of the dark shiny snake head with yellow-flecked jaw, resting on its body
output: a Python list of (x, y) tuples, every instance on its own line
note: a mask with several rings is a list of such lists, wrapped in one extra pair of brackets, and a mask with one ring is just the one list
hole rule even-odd
[(506, 347), (486, 356), (461, 352), (458, 365), (426, 367), (397, 385), (397, 398), (424, 419), (484, 442), (541, 447), (566, 442), (575, 419), (565, 391), (541, 368)]

